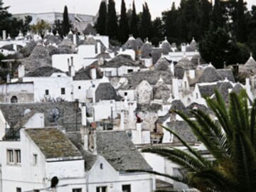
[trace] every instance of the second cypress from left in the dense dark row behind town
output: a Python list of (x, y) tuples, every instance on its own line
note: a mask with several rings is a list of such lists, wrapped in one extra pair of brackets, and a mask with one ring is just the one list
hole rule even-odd
[(114, 0), (110, 0), (107, 6), (106, 34), (111, 39), (117, 39), (117, 12), (115, 10)]

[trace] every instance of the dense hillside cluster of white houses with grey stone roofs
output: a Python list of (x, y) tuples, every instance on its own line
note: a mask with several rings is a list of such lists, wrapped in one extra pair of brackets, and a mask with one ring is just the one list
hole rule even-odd
[(0, 46), (5, 55), (23, 54), (14, 75), (0, 84), (0, 192), (185, 188), (145, 173), (176, 174), (178, 167), (139, 150), (179, 146), (161, 124), (201, 149), (172, 110), (189, 116), (200, 109), (213, 117), (204, 97), (214, 98), (215, 90), (227, 103), (229, 92), (246, 90), (250, 100), (256, 94), (252, 56), (233, 66), (245, 77), (242, 85), (232, 68), (206, 63), (194, 39), (178, 47), (165, 39), (154, 47), (130, 36), (116, 48), (107, 36), (70, 31), (62, 39), (48, 31), (43, 38), (20, 33)]

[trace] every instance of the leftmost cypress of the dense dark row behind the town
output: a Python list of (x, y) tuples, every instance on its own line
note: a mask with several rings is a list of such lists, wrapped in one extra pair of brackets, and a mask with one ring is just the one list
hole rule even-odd
[(99, 16), (95, 24), (97, 33), (100, 33), (100, 35), (102, 36), (106, 35), (106, 18), (107, 18), (107, 5), (105, 1), (102, 1), (100, 3)]

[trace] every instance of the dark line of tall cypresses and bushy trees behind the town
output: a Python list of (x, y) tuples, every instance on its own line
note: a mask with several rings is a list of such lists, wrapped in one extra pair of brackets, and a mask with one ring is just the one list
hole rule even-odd
[(173, 3), (161, 17), (151, 19), (149, 6), (143, 11), (127, 11), (122, 0), (121, 14), (117, 16), (114, 0), (102, 1), (95, 29), (100, 35), (110, 36), (117, 45), (134, 38), (149, 38), (158, 46), (164, 37), (170, 43), (188, 43), (193, 38), (199, 43), (201, 56), (216, 68), (224, 65), (245, 63), (250, 53), (256, 56), (256, 6), (248, 11), (243, 0), (181, 0), (178, 8)]

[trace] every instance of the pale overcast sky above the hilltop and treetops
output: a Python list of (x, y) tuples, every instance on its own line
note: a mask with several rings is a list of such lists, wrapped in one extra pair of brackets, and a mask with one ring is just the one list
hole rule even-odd
[[(68, 12), (77, 14), (96, 15), (100, 7), (101, 0), (3, 0), (4, 6), (11, 6), (9, 11), (12, 14), (21, 13), (46, 13), (63, 12), (64, 6), (68, 6)], [(135, 0), (137, 12), (142, 11), (144, 1), (149, 5), (149, 10), (153, 18), (161, 16), (161, 12), (171, 8), (172, 2), (179, 5), (180, 0)], [(246, 0), (248, 7), (256, 4), (256, 0)], [(121, 0), (116, 0), (116, 10), (120, 12)], [(132, 0), (125, 0), (127, 9), (132, 4)]]

